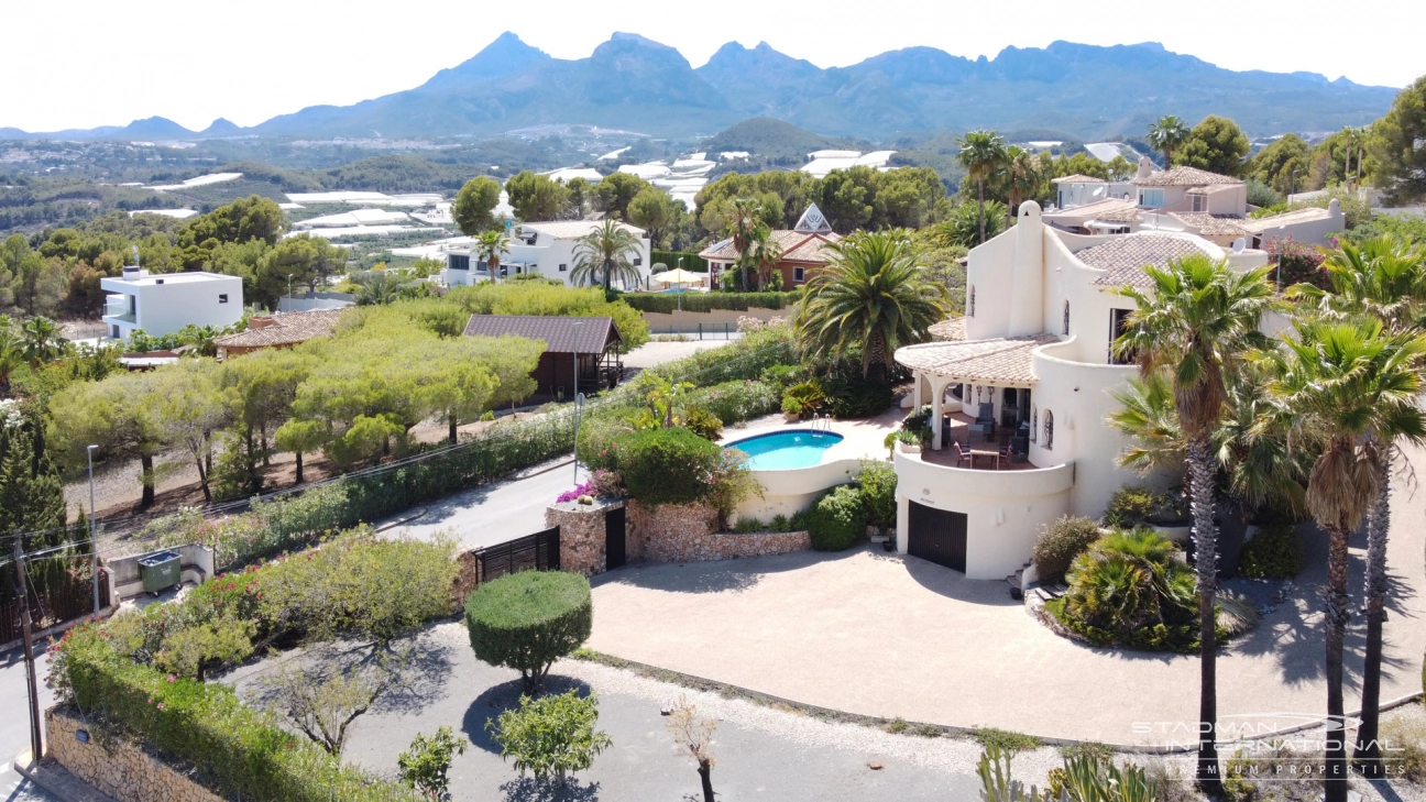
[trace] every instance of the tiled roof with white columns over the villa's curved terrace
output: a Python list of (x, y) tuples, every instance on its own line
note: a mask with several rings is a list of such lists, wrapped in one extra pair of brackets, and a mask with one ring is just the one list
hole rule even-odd
[(931, 448), (941, 448), (941, 418), (944, 417), (945, 388), (953, 384), (965, 387), (988, 387), (990, 398), (1005, 388), (1028, 391), (1035, 387), (1035, 372), (1031, 355), (1035, 348), (1058, 342), (1052, 334), (1031, 337), (997, 337), (994, 340), (970, 340), (951, 342), (924, 342), (897, 348), (896, 361), (911, 368), (915, 375), (917, 402), (920, 402), (921, 381), (931, 385)]

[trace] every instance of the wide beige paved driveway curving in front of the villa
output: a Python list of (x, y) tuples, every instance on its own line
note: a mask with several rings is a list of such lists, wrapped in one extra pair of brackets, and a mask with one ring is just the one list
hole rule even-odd
[[(1426, 472), (1422, 452), (1412, 458)], [(1426, 648), (1426, 509), (1405, 491), (1392, 509), (1383, 701), (1420, 691)], [(1282, 726), (1298, 721), (1253, 714), (1323, 709), (1325, 537), (1308, 541), (1310, 568), (1219, 658), (1222, 716)], [(1363, 545), (1353, 544), (1353, 597)], [(1263, 602), (1279, 588), (1233, 587)], [(595, 609), (597, 651), (833, 709), (1112, 743), (1191, 741), (1196, 721), (1196, 656), (1075, 644), (1030, 618), (1004, 582), (880, 549), (630, 565), (596, 579)], [(1358, 621), (1349, 708), (1360, 646)]]

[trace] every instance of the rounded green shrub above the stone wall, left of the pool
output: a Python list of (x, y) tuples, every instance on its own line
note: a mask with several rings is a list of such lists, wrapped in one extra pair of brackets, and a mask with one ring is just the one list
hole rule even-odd
[(629, 497), (645, 504), (686, 504), (706, 497), (722, 448), (686, 428), (635, 432), (617, 445)]

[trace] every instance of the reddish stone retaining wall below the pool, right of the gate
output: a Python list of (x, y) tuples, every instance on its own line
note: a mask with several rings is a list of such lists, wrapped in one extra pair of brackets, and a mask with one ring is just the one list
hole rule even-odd
[(720, 532), (717, 509), (706, 504), (629, 502), (629, 558), (653, 562), (694, 562), (766, 557), (811, 547), (807, 532)]

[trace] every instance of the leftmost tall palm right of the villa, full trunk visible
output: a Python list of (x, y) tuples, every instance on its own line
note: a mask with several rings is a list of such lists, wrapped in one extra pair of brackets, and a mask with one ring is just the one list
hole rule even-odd
[(1194, 568), (1198, 579), (1201, 686), (1198, 782), (1221, 796), (1218, 768), (1218, 644), (1214, 599), (1218, 589), (1218, 531), (1214, 525), (1212, 432), (1228, 400), (1225, 374), (1238, 370), (1249, 348), (1263, 344), (1258, 333), (1262, 313), (1273, 305), (1268, 268), (1233, 273), (1228, 261), (1206, 255), (1145, 265), (1151, 288), (1124, 287), (1118, 293), (1138, 308), (1115, 341), (1119, 355), (1135, 355), (1148, 377), (1169, 371), (1174, 407), (1184, 437), (1194, 517)]

